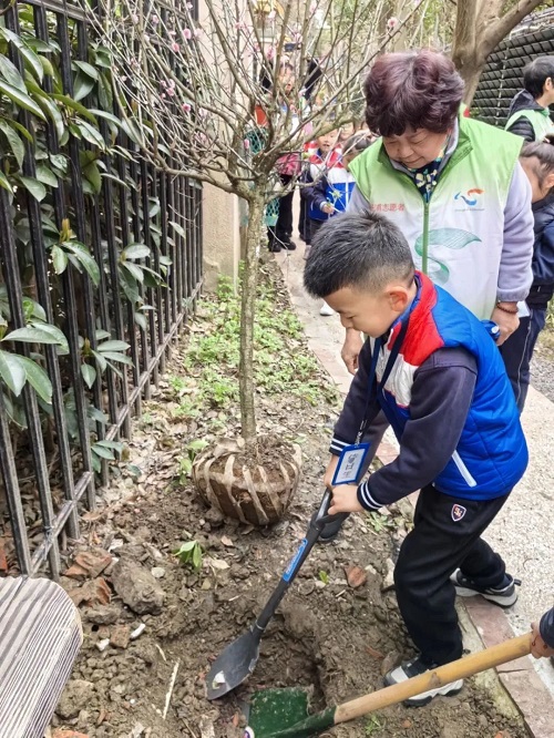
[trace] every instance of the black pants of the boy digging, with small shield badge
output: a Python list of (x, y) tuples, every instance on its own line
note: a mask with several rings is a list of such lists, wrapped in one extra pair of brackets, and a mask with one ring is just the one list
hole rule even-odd
[(463, 500), (432, 485), (420, 492), (414, 527), (404, 539), (394, 568), (394, 584), (408, 633), (430, 665), (462, 656), (450, 575), (461, 568), (479, 586), (502, 585), (505, 564), (480, 536), (506, 500), (507, 495), (481, 502)]

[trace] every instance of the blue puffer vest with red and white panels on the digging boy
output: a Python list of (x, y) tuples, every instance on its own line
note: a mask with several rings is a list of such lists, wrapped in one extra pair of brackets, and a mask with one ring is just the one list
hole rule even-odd
[[(380, 393), (383, 412), (401, 440), (410, 419), (411, 388), (418, 368), (440, 348), (462, 347), (470, 351), (478, 363), (473, 402), (458, 448), (433, 484), (441, 492), (468, 500), (503, 496), (522, 478), (529, 454), (500, 351), (478, 318), (424, 275), (417, 273), (417, 278), (420, 288), (408, 332)], [(402, 318), (381, 351), (376, 368), (378, 381), (401, 321)]]

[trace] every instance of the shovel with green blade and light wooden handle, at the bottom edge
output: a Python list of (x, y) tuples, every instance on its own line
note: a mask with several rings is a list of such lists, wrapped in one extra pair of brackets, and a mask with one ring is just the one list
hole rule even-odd
[(473, 676), (531, 653), (532, 633), (439, 666), (391, 687), (308, 716), (308, 696), (298, 688), (265, 689), (254, 695), (244, 738), (312, 738), (340, 722), (397, 705), (429, 689)]

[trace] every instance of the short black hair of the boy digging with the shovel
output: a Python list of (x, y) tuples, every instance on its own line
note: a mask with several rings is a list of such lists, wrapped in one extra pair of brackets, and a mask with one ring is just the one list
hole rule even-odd
[(304, 286), (322, 298), (342, 287), (380, 293), (390, 281), (411, 283), (413, 270), (408, 242), (393, 223), (375, 213), (345, 213), (314, 237)]

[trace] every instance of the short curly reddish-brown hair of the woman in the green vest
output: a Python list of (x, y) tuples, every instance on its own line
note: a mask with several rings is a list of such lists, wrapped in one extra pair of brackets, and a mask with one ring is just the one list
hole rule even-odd
[(444, 54), (429, 50), (383, 54), (363, 84), (366, 121), (382, 136), (401, 135), (407, 127), (447, 133), (463, 90), (462, 78)]

